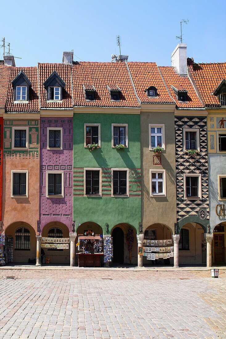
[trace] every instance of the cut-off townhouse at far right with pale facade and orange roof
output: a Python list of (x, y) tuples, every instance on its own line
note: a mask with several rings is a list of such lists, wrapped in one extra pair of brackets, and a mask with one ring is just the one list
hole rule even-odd
[(188, 59), (188, 72), (208, 113), (207, 264), (211, 266), (212, 261), (226, 262), (226, 63), (195, 63)]

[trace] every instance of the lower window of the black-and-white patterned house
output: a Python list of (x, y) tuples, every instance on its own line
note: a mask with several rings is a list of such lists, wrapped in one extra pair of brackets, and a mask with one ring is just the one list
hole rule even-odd
[(201, 174), (185, 174), (185, 199), (202, 199)]

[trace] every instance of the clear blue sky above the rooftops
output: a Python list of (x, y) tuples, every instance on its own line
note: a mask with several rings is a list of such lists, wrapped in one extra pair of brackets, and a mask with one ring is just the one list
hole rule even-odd
[[(171, 64), (180, 35), (195, 62), (226, 61), (226, 1), (53, 1), (0, 0), (0, 38), (11, 43), (17, 66), (61, 62), (74, 50), (74, 60), (111, 61), (121, 54), (129, 61)], [(223, 33), (224, 32), (224, 33)], [(7, 52), (7, 48), (6, 48)], [(0, 48), (2, 59), (3, 48)], [(80, 58), (80, 59), (79, 59)]]

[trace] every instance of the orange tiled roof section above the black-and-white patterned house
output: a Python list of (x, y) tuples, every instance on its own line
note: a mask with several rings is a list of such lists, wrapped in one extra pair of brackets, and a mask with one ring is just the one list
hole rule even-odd
[[(194, 87), (186, 76), (180, 76), (174, 67), (166, 66), (159, 67), (163, 79), (168, 87), (170, 95), (176, 101), (176, 106), (178, 108), (203, 108), (203, 104), (200, 101), (199, 97), (195, 93)], [(181, 102), (176, 99), (176, 95), (173, 91), (175, 87), (178, 91), (188, 91), (187, 93), (187, 102)]]

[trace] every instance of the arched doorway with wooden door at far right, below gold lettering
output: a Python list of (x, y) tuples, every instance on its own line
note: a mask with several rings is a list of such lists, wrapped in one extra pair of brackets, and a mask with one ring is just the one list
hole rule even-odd
[(213, 230), (213, 262), (225, 264), (226, 256), (226, 222), (216, 225)]

